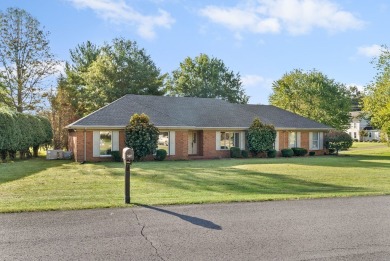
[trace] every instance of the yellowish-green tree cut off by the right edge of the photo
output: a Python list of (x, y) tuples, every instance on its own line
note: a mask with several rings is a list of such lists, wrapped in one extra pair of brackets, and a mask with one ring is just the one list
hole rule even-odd
[(381, 55), (373, 61), (377, 74), (365, 89), (363, 110), (370, 116), (371, 124), (390, 137), (390, 50), (382, 47)]

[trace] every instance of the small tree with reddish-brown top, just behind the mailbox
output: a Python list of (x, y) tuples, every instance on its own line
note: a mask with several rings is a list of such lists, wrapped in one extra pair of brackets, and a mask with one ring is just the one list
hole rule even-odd
[(159, 133), (146, 114), (136, 113), (130, 118), (126, 126), (126, 146), (133, 148), (136, 161), (156, 151)]

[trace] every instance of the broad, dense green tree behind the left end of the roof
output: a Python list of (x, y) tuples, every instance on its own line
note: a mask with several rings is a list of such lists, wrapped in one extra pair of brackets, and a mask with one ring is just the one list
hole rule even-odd
[(126, 94), (163, 95), (164, 78), (136, 42), (116, 38), (99, 47), (87, 42), (71, 50), (68, 92), (80, 116)]

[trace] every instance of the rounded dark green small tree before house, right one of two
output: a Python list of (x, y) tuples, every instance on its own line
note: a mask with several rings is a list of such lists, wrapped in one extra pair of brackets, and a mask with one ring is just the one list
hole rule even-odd
[(255, 118), (248, 130), (249, 151), (256, 156), (260, 152), (273, 149), (275, 138), (275, 127), (263, 124), (259, 118)]

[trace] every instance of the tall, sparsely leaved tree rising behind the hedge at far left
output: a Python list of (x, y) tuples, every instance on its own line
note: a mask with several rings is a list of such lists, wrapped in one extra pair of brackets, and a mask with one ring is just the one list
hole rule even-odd
[(23, 112), (42, 102), (42, 82), (58, 64), (48, 34), (22, 9), (0, 12), (0, 103)]

